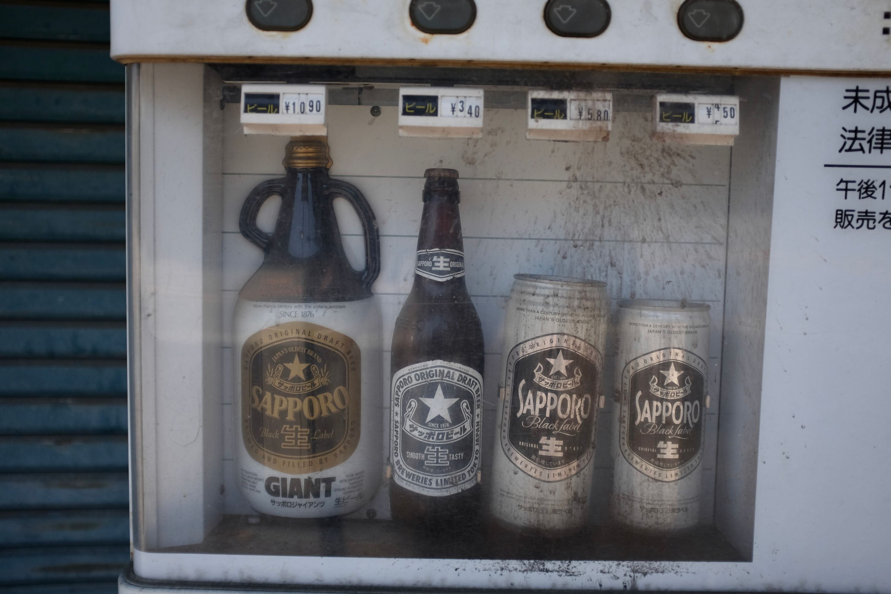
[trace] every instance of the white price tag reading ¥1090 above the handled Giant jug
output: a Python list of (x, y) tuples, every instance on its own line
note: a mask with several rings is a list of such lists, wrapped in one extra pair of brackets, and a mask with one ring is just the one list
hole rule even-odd
[(328, 134), (328, 89), (324, 85), (243, 85), (241, 126), (245, 134)]

